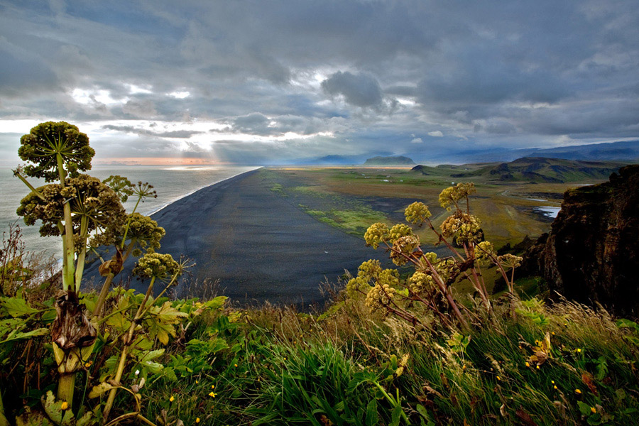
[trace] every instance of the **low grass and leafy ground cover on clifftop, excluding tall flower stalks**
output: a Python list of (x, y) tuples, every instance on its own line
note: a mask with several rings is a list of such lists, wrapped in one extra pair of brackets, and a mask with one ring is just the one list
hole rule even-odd
[[(0, 383), (9, 419), (34, 413), (55, 389), (50, 339), (38, 332), (43, 327), (48, 332), (53, 320), (52, 293), (42, 285), (18, 292), (23, 305), (3, 299), (3, 321), (26, 324), (1, 337)], [(129, 297), (130, 292), (115, 289), (109, 301), (121, 304)], [(97, 295), (81, 299), (90, 307)], [(186, 425), (630, 425), (639, 410), (638, 325), (568, 302), (512, 304), (503, 298), (493, 302), (491, 320), (469, 305), (477, 315), (463, 332), (371, 315), (364, 299), (344, 294), (317, 315), (273, 307), (226, 309), (221, 298), (205, 303), (160, 298), (153, 306), (166, 302), (187, 316), (180, 317), (168, 345), (156, 338), (136, 350), (120, 381), (130, 392), (117, 395), (114, 419), (126, 422), (122, 416), (139, 410), (156, 425), (178, 420)], [(117, 321), (107, 320), (111, 333), (134, 315), (131, 309), (123, 313)], [(531, 356), (540, 352), (547, 359), (532, 363)], [(74, 417), (104, 407), (107, 395), (94, 386), (112, 371), (117, 355), (117, 344), (106, 344), (84, 360), (75, 407), (86, 408), (74, 410)], [(71, 417), (58, 419), (73, 424)]]

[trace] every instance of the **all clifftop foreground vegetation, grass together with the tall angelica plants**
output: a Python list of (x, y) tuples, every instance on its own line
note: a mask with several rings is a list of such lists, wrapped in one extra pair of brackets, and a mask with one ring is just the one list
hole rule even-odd
[[(188, 267), (157, 253), (164, 234), (121, 200), (150, 185), (88, 170), (75, 126), (45, 123), (23, 136), (16, 175), (31, 192), (18, 214), (60, 236), (62, 271), (28, 256), (19, 229), (0, 252), (0, 425), (599, 425), (639, 410), (639, 325), (563, 302), (522, 300), (513, 271), (471, 214), (471, 183), (444, 188), (443, 216), (413, 202), (405, 221), (364, 233), (398, 268), (362, 263), (313, 315), (231, 309), (165, 297)], [(49, 183), (35, 188), (28, 177)], [(283, 188), (273, 185), (273, 192)], [(284, 195), (286, 195), (284, 193)], [(450, 214), (444, 214), (443, 212)], [(356, 216), (356, 214), (354, 214)], [(370, 219), (375, 219), (372, 215)], [(350, 220), (350, 219), (349, 219)], [(449, 250), (424, 253), (424, 228)], [(102, 260), (99, 293), (84, 289), (88, 251)], [(143, 253), (146, 252), (146, 253)], [(146, 294), (112, 288), (124, 259)], [(491, 297), (488, 266), (506, 292)], [(473, 296), (456, 296), (464, 281)]]

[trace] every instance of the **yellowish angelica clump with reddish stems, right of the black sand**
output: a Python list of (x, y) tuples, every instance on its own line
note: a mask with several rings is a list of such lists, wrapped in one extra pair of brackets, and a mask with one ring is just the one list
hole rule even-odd
[[(521, 258), (512, 255), (496, 256), (492, 244), (483, 241), (481, 222), (470, 212), (469, 196), (474, 192), (476, 190), (473, 183), (459, 183), (441, 192), (439, 204), (444, 209), (452, 210), (452, 214), (444, 219), (439, 230), (432, 224), (430, 209), (426, 204), (413, 202), (405, 209), (408, 223), (417, 226), (426, 224), (437, 236), (438, 244), (447, 246), (450, 256), (444, 258), (439, 258), (436, 253), (424, 253), (419, 237), (407, 224), (396, 224), (391, 228), (381, 222), (372, 224), (364, 234), (366, 245), (373, 249), (386, 246), (395, 265), (411, 265), (415, 272), (403, 281), (389, 280), (389, 273), (382, 274), (381, 266), (377, 266), (375, 261), (362, 263), (358, 275), (346, 287), (349, 295), (364, 293), (365, 303), (371, 310), (386, 310), (413, 324), (417, 319), (400, 304), (400, 300), (407, 300), (409, 304), (421, 302), (444, 324), (450, 325), (449, 317), (439, 309), (439, 300), (443, 299), (454, 320), (465, 328), (468, 327), (466, 315), (461, 312), (450, 289), (457, 280), (466, 278), (472, 283), (490, 315), (491, 300), (481, 267), (495, 264), (508, 283), (510, 293), (514, 293), (512, 271), (519, 266)], [(511, 271), (510, 277), (507, 271)]]

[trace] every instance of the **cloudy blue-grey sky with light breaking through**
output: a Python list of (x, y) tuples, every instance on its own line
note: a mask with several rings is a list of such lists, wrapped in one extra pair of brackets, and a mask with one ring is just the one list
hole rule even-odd
[(639, 137), (636, 0), (0, 0), (0, 165), (42, 121), (94, 163)]

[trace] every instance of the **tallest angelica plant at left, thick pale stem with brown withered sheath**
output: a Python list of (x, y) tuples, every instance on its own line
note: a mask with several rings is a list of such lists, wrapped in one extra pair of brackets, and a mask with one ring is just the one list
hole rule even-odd
[[(87, 240), (92, 231), (99, 233), (123, 219), (124, 209), (111, 188), (80, 175), (91, 168), (95, 151), (76, 126), (65, 121), (38, 124), (20, 143), (18, 155), (28, 164), (13, 173), (31, 193), (21, 201), (18, 214), (26, 224), (42, 221), (41, 235), (62, 239), (62, 293), (55, 302), (51, 337), (60, 373), (58, 398), (71, 404), (75, 371), (91, 352), (96, 336), (77, 297)], [(36, 188), (27, 178), (50, 183)]]

